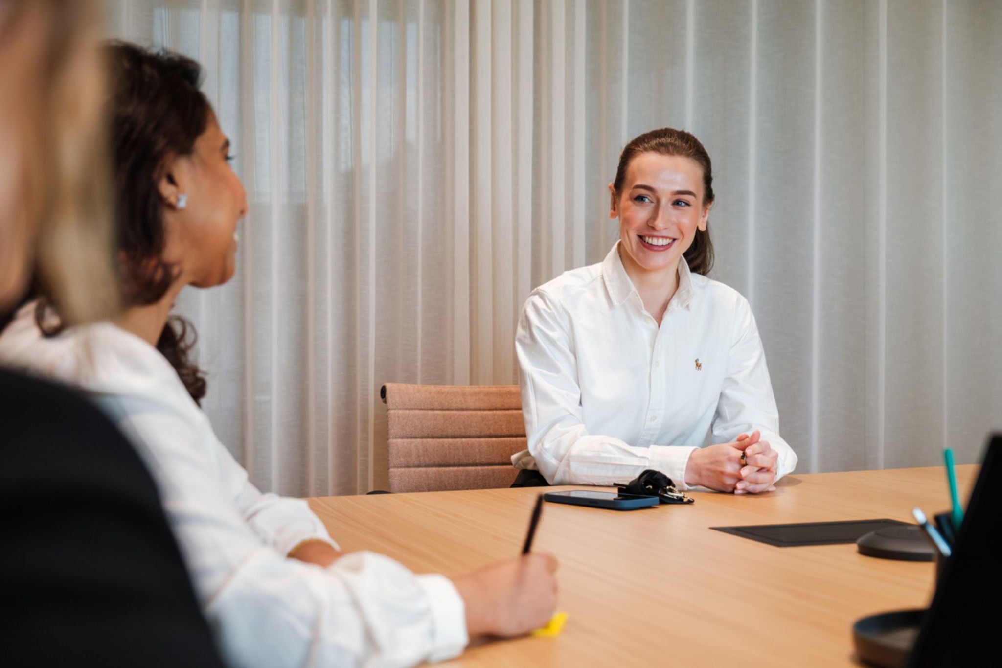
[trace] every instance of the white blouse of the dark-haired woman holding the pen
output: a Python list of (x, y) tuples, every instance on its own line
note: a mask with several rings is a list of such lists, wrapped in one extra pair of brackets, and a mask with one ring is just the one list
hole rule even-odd
[(46, 339), (32, 303), (0, 336), (0, 363), (80, 388), (129, 437), (230, 665), (413, 665), (466, 646), (463, 599), (443, 576), (368, 552), (327, 569), (288, 559), (305, 540), (333, 545), (324, 524), (305, 501), (247, 480), (145, 341), (107, 322)]

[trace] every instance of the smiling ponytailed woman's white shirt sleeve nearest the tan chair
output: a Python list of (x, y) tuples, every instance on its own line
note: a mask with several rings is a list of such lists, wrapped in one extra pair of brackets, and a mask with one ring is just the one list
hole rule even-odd
[(589, 434), (581, 411), (577, 361), (564, 309), (542, 290), (529, 295), (515, 335), (529, 453), (551, 485), (626, 483), (645, 469), (684, 488), (688, 446), (630, 446)]

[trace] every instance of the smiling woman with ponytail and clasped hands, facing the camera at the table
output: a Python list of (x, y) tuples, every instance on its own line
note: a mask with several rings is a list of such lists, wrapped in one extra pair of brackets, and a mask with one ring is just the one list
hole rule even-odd
[[(747, 300), (706, 276), (712, 180), (688, 132), (652, 130), (623, 149), (609, 184), (619, 240), (534, 289), (519, 319), (528, 450), (512, 457), (514, 486), (655, 469), (679, 489), (755, 494), (796, 467)], [(715, 445), (701, 447), (710, 431)]]

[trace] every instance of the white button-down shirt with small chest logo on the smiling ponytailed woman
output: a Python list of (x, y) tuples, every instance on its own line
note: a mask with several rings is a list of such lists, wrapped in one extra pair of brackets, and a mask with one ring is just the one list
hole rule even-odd
[(685, 489), (689, 455), (762, 432), (778, 476), (797, 466), (759, 329), (734, 289), (678, 263), (661, 325), (643, 307), (618, 242), (605, 260), (532, 291), (519, 319), (528, 450), (512, 457), (553, 485), (626, 483), (656, 469)]

